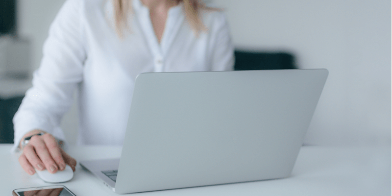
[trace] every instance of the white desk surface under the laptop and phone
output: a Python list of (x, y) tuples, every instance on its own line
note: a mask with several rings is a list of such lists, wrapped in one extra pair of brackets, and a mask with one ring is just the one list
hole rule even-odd
[[(0, 196), (12, 190), (46, 186), (19, 166), (19, 154), (0, 144)], [(121, 147), (70, 147), (76, 160), (119, 157)], [(61, 183), (76, 196), (118, 196), (80, 165)], [(142, 196), (391, 196), (391, 147), (302, 147), (289, 178), (156, 191)]]

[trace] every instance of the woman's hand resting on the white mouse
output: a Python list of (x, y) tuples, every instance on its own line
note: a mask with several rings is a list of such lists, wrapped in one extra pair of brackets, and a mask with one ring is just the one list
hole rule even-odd
[[(30, 131), (23, 138), (40, 132), (43, 131)], [(28, 144), (23, 147), (19, 163), (30, 175), (35, 173), (34, 168), (39, 171), (46, 169), (50, 173), (55, 173), (65, 170), (65, 164), (71, 166), (73, 172), (76, 167), (76, 160), (68, 155), (49, 133), (32, 136)]]

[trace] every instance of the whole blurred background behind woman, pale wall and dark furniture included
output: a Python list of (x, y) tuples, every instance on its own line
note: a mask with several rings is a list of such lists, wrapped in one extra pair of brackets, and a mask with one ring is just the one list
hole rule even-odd
[[(12, 143), (10, 120), (64, 1), (0, 2), (0, 143)], [(328, 69), (305, 144), (391, 146), (391, 0), (210, 1), (227, 16), (237, 69)], [(249, 59), (256, 67), (242, 67)], [(71, 144), (76, 107), (62, 122)]]

